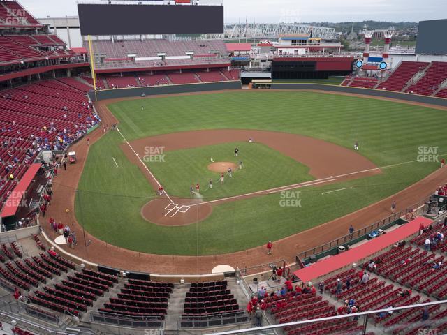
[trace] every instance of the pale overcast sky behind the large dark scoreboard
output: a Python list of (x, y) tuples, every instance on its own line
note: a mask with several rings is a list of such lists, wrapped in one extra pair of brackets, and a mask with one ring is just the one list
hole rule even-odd
[[(20, 0), (35, 17), (78, 15), (75, 0)], [(225, 22), (411, 21), (447, 18), (447, 0), (223, 0)], [(98, 17), (98, 20), (101, 18)]]

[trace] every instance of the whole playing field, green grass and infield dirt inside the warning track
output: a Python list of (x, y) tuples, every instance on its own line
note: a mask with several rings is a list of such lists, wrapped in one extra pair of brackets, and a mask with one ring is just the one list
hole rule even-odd
[[(98, 239), (145, 253), (276, 241), (390, 197), (447, 154), (445, 111), (373, 98), (234, 91), (108, 108), (119, 131), (89, 148), (75, 214)], [(223, 184), (211, 158), (233, 166)]]

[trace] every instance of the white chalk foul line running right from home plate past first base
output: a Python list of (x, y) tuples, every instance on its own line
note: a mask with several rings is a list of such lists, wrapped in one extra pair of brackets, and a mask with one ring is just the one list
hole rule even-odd
[[(441, 155), (440, 155), (441, 156)], [(214, 202), (222, 202), (222, 201), (226, 201), (226, 200), (230, 200), (230, 199), (235, 199), (235, 198), (244, 198), (247, 197), (249, 195), (256, 195), (256, 194), (271, 194), (271, 193), (277, 193), (277, 192), (281, 192), (281, 191), (287, 191), (287, 190), (291, 190), (293, 188), (300, 188), (300, 187), (305, 187), (305, 186), (312, 186), (312, 185), (316, 185), (316, 184), (322, 184), (322, 183), (326, 183), (328, 181), (332, 181), (332, 180), (337, 180), (338, 178), (342, 178), (342, 177), (347, 177), (347, 176), (351, 176), (353, 174), (360, 174), (360, 173), (365, 173), (365, 172), (372, 172), (375, 170), (381, 170), (381, 169), (387, 169), (387, 168), (393, 168), (395, 166), (398, 165), (404, 165), (404, 164), (410, 164), (410, 163), (416, 163), (418, 160), (415, 159), (414, 161), (408, 161), (408, 162), (402, 162), (402, 163), (395, 163), (395, 164), (390, 164), (390, 165), (385, 165), (379, 168), (371, 168), (371, 169), (367, 169), (367, 170), (361, 170), (361, 171), (356, 171), (356, 172), (349, 172), (349, 173), (344, 173), (344, 174), (339, 174), (338, 176), (330, 176), (330, 177), (325, 177), (325, 178), (321, 178), (321, 179), (316, 179), (316, 180), (311, 180), (311, 181), (305, 181), (303, 183), (299, 183), (299, 184), (294, 184), (294, 185), (286, 185), (286, 186), (280, 186), (277, 188), (270, 188), (270, 190), (263, 190), (263, 191), (256, 191), (256, 192), (252, 192), (252, 193), (247, 193), (247, 194), (241, 194), (241, 195), (234, 195), (233, 197), (228, 197), (228, 198), (222, 198), (222, 199), (217, 199), (217, 200), (211, 200), (211, 201), (206, 201), (206, 202), (200, 202), (200, 204), (212, 204)], [(191, 204), (190, 206), (200, 206), (200, 204)]]

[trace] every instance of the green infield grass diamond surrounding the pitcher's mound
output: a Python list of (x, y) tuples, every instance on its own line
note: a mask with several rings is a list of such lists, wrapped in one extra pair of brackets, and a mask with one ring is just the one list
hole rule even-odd
[[(234, 157), (234, 149), (240, 155)], [(220, 184), (220, 174), (207, 169), (214, 162), (230, 162), (236, 165), (242, 161), (242, 170), (235, 170), (233, 177), (225, 177)], [(163, 162), (147, 163), (152, 173), (170, 195), (182, 198), (190, 197), (191, 185), (201, 186), (204, 198), (224, 198), (254, 191), (298, 184), (312, 180), (309, 168), (290, 157), (261, 143), (233, 142), (210, 145), (185, 150), (167, 151)], [(214, 181), (212, 189), (207, 189), (210, 179)]]

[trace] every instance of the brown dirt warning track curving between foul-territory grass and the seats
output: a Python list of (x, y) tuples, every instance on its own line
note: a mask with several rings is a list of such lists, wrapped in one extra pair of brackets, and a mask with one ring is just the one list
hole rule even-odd
[[(216, 93), (217, 92), (212, 92), (212, 94)], [(250, 93), (250, 91), (247, 91), (247, 94)], [(201, 94), (209, 94), (209, 92), (203, 92)], [(352, 96), (358, 95), (352, 94)], [(159, 96), (147, 98), (159, 98)], [(367, 98), (374, 97), (367, 96)], [(106, 105), (122, 100), (123, 99), (114, 99), (112, 101), (109, 100), (95, 103), (96, 110), (101, 114), (104, 124), (110, 125), (117, 121), (109, 112)], [(403, 103), (409, 102), (404, 101)], [(432, 106), (428, 105), (427, 107)], [(101, 137), (101, 135), (103, 135), (103, 131), (101, 127), (99, 127), (96, 131), (89, 134), (90, 142), (94, 143)], [(342, 218), (337, 218), (336, 220), (323, 225), (318, 225), (305, 232), (300, 232), (290, 237), (286, 237), (285, 239), (274, 241), (271, 256), (266, 255), (265, 246), (259, 246), (257, 248), (251, 248), (246, 251), (226, 255), (200, 257), (138, 253), (117, 246), (111, 246), (110, 244), (101, 241), (101, 239), (92, 236), (88, 232), (85, 232), (85, 239), (82, 236), (82, 226), (79, 225), (73, 214), (73, 204), (75, 202), (75, 190), (78, 187), (78, 181), (82, 169), (84, 168), (85, 159), (87, 158), (88, 147), (86, 140), (83, 139), (74, 144), (72, 150), (76, 151), (78, 163), (69, 165), (66, 171), (63, 169), (60, 170), (58, 176), (54, 179), (54, 196), (52, 198), (51, 206), (48, 207), (47, 215), (45, 218), (41, 218), (41, 227), (50, 238), (55, 239), (59, 235), (55, 234), (50, 228), (50, 225), (47, 222), (48, 218), (53, 217), (56, 221), (61, 221), (70, 225), (72, 230), (75, 230), (78, 236), (78, 246), (73, 250), (68, 246), (61, 246), (61, 248), (64, 248), (68, 253), (73, 253), (90, 262), (96, 262), (117, 269), (152, 272), (156, 274), (210, 274), (214, 267), (222, 264), (230, 265), (234, 268), (242, 267), (243, 265), (251, 267), (279, 258), (285, 258), (288, 262), (295, 262), (295, 255), (297, 253), (301, 253), (309, 248), (314, 248), (337, 239), (337, 237), (348, 232), (349, 225), (353, 225), (354, 228), (360, 229), (390, 215), (391, 199), (388, 198), (343, 216)], [(396, 210), (400, 211), (406, 209), (416, 202), (419, 202), (424, 197), (432, 194), (432, 192), (446, 180), (447, 168), (442, 168), (425, 177), (417, 184), (409, 186), (396, 195), (393, 195), (393, 200), (397, 202)], [(68, 213), (66, 213), (65, 209), (69, 209)], [(85, 247), (85, 240), (91, 240), (91, 244), (87, 247)], [(228, 243), (231, 243), (231, 241), (228, 241)]]

